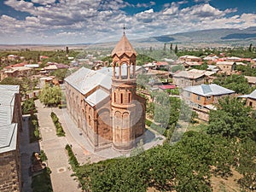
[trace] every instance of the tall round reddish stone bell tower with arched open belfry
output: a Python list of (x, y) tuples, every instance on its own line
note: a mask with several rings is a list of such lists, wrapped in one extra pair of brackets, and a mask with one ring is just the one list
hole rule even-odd
[[(112, 58), (113, 148), (129, 150), (134, 147), (136, 137), (144, 133), (144, 125), (140, 121), (145, 120), (145, 103), (137, 101), (137, 52), (126, 38), (125, 32), (113, 49)], [(138, 117), (139, 115), (142, 117)]]

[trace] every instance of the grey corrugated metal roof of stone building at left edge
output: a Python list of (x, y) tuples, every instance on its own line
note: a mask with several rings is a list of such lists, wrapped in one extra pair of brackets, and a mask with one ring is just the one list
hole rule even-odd
[(19, 85), (0, 85), (0, 153), (16, 148), (17, 125), (12, 123)]

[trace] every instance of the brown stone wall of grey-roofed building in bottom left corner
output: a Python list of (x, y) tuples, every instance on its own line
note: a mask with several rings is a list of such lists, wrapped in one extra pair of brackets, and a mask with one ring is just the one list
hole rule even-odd
[(0, 191), (19, 192), (20, 191), (20, 166), (17, 151), (9, 151), (0, 154)]

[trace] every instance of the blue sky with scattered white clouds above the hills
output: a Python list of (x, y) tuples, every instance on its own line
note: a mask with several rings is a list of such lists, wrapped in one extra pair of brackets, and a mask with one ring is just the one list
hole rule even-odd
[(87, 44), (256, 26), (256, 0), (1, 0), (0, 44)]

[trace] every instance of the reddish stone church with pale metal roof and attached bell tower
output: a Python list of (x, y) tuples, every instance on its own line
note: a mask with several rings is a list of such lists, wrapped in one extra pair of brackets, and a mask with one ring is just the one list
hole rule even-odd
[(137, 95), (137, 52), (125, 36), (112, 67), (81, 67), (65, 79), (67, 112), (95, 150), (129, 151), (145, 131), (146, 100)]

